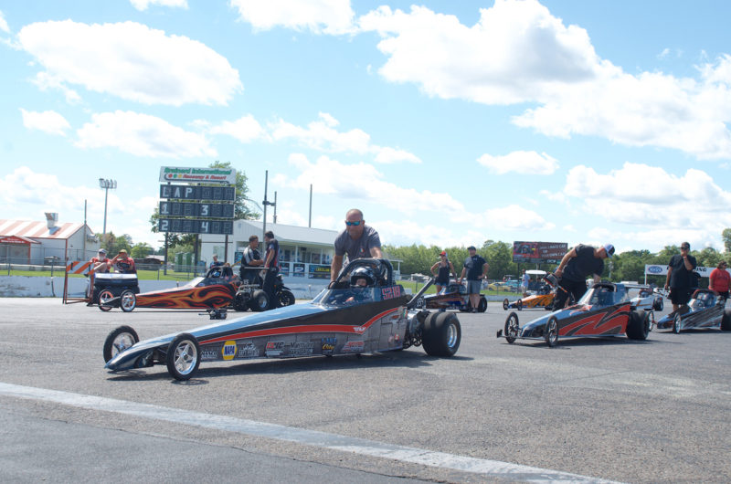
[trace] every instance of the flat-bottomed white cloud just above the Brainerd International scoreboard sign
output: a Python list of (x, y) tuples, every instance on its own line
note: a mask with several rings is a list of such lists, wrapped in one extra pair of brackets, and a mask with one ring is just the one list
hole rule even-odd
[(117, 110), (94, 114), (77, 134), (79, 148), (114, 147), (146, 157), (216, 156), (205, 136), (148, 114)]

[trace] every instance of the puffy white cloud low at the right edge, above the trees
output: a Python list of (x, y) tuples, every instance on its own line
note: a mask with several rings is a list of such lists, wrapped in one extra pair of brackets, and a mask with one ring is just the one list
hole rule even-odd
[[(731, 192), (697, 169), (677, 176), (661, 167), (624, 163), (619, 170), (599, 174), (579, 165), (567, 174), (564, 193), (578, 198), (577, 205), (586, 213), (613, 223), (641, 226), (641, 232), (687, 233), (689, 239), (717, 239), (724, 228), (731, 226)], [(676, 237), (680, 236), (672, 239)], [(652, 242), (657, 245), (657, 240)]]

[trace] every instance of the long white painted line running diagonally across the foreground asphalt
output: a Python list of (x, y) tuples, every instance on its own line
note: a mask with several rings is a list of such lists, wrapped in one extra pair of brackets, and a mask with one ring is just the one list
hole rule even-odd
[(460, 470), (499, 479), (526, 482), (610, 482), (556, 470), (532, 468), (497, 460), (457, 456), (422, 448), (376, 442), (365, 438), (328, 434), (317, 430), (280, 426), (232, 416), (191, 412), (160, 405), (140, 404), (101, 396), (72, 394), (32, 386), (0, 382), (0, 395), (53, 402), (89, 410), (114, 412), (128, 416), (152, 418), (187, 426), (201, 426), (226, 432), (237, 432), (248, 436), (274, 438), (307, 446), (330, 448), (376, 458), (388, 458), (433, 468)]

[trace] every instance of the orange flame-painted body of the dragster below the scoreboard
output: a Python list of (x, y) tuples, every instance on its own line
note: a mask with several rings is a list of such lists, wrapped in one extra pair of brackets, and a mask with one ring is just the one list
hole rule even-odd
[(202, 288), (173, 289), (170, 291), (138, 294), (137, 307), (157, 309), (225, 308), (236, 290), (231, 284), (216, 284)]

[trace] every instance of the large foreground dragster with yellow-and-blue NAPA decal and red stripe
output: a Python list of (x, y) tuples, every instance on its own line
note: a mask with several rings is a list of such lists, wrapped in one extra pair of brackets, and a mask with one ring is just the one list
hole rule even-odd
[(104, 342), (105, 368), (112, 372), (167, 365), (177, 380), (191, 378), (201, 362), (252, 358), (299, 358), (397, 351), (423, 345), (432, 356), (450, 357), (461, 341), (454, 313), (416, 310), (394, 283), (386, 259), (355, 259), (331, 289), (309, 303), (221, 321), (143, 342), (129, 326)]

